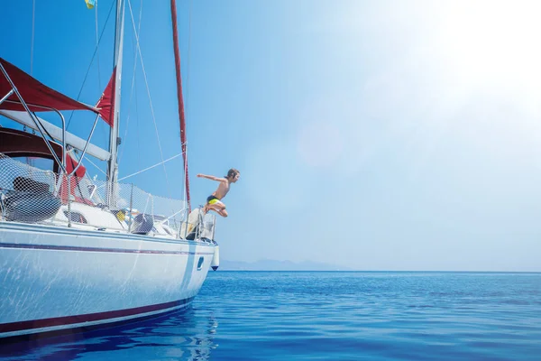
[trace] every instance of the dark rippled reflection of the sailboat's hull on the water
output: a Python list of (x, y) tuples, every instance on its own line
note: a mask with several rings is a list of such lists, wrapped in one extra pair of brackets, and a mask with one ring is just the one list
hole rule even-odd
[(217, 347), (217, 327), (212, 314), (203, 315), (190, 306), (129, 326), (0, 346), (0, 357), (6, 361), (43, 357), (100, 359), (106, 354), (116, 359), (206, 360)]

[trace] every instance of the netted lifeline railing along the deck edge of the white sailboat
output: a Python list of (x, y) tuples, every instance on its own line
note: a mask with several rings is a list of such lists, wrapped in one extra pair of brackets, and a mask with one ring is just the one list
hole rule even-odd
[[(3, 221), (94, 227), (174, 239), (215, 236), (215, 216), (186, 202), (164, 198), (128, 183), (43, 171), (37, 159), (26, 163), (0, 153), (0, 215)], [(114, 197), (107, 191), (114, 189)]]

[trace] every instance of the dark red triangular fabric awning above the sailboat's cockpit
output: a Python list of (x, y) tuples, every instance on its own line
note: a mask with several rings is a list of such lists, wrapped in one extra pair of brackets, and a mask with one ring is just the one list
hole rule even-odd
[[(67, 97), (58, 91), (51, 89), (33, 79), (23, 70), (15, 67), (12, 63), (0, 58), (0, 64), (4, 67), (9, 78), (14, 82), (15, 87), (23, 97), (23, 100), (30, 107), (32, 112), (49, 111), (41, 106), (47, 106), (57, 110), (90, 110), (97, 112), (92, 106), (80, 103), (70, 97)], [(0, 72), (0, 98), (5, 97), (12, 86), (5, 78), (3, 72)], [(5, 101), (0, 104), (0, 109), (25, 111), (16, 94), (12, 94), (7, 100), (13, 100), (16, 103)]]

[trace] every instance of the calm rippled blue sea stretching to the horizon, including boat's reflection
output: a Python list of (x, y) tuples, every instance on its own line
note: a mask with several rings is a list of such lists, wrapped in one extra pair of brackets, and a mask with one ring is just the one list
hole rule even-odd
[(193, 306), (16, 360), (541, 360), (541, 273), (209, 273)]

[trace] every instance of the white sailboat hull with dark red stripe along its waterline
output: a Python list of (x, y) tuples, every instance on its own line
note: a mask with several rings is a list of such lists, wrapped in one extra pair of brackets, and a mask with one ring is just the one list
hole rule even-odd
[(186, 307), (206, 279), (214, 249), (204, 242), (0, 222), (0, 338)]

